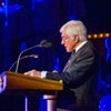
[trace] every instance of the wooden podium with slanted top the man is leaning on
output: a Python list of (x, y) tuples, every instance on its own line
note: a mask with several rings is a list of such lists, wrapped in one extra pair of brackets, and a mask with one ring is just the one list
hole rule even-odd
[(57, 92), (61, 90), (63, 90), (62, 81), (29, 77), (11, 71), (4, 71), (0, 75), (0, 93), (43, 95), (48, 102), (51, 101), (47, 111), (56, 111), (53, 99), (56, 99)]

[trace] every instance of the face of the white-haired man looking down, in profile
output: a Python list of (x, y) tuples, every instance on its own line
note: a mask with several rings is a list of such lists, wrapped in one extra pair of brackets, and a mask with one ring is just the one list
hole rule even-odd
[(77, 44), (75, 40), (68, 37), (64, 31), (61, 33), (61, 38), (62, 38), (61, 44), (64, 46), (67, 52), (72, 52), (75, 49)]

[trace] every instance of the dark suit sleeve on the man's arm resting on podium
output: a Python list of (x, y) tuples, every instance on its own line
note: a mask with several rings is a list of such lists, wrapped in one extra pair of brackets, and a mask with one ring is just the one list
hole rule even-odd
[(71, 65), (67, 71), (62, 73), (48, 72), (47, 78), (52, 80), (63, 80), (63, 83), (65, 84), (85, 82), (93, 74), (93, 51), (84, 51), (81, 52), (74, 61), (72, 58)]

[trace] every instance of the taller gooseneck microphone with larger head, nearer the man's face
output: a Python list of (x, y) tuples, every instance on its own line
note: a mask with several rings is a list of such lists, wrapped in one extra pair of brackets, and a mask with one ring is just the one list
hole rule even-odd
[(37, 47), (40, 47), (40, 48), (41, 48), (41, 47), (50, 48), (51, 46), (52, 46), (51, 42), (47, 42), (47, 40), (42, 40), (39, 44), (33, 46), (33, 47), (30, 47), (30, 48), (23, 50), (23, 51), (19, 54), (19, 57), (18, 57), (17, 67), (16, 67), (16, 73), (18, 72), (19, 61), (20, 61), (20, 58), (21, 58), (21, 54), (22, 54), (22, 53), (24, 53), (24, 52), (27, 52), (27, 51), (29, 51), (29, 50), (31, 50), (31, 49), (34, 49), (34, 48), (37, 48)]

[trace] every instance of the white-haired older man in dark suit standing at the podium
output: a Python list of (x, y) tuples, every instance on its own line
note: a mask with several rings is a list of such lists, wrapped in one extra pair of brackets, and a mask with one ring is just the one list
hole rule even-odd
[(64, 46), (67, 52), (71, 52), (63, 71), (58, 73), (32, 70), (24, 74), (62, 80), (64, 90), (58, 95), (59, 109), (98, 111), (99, 59), (92, 43), (87, 40), (87, 28), (81, 21), (71, 20), (62, 26), (60, 32), (61, 44)]

